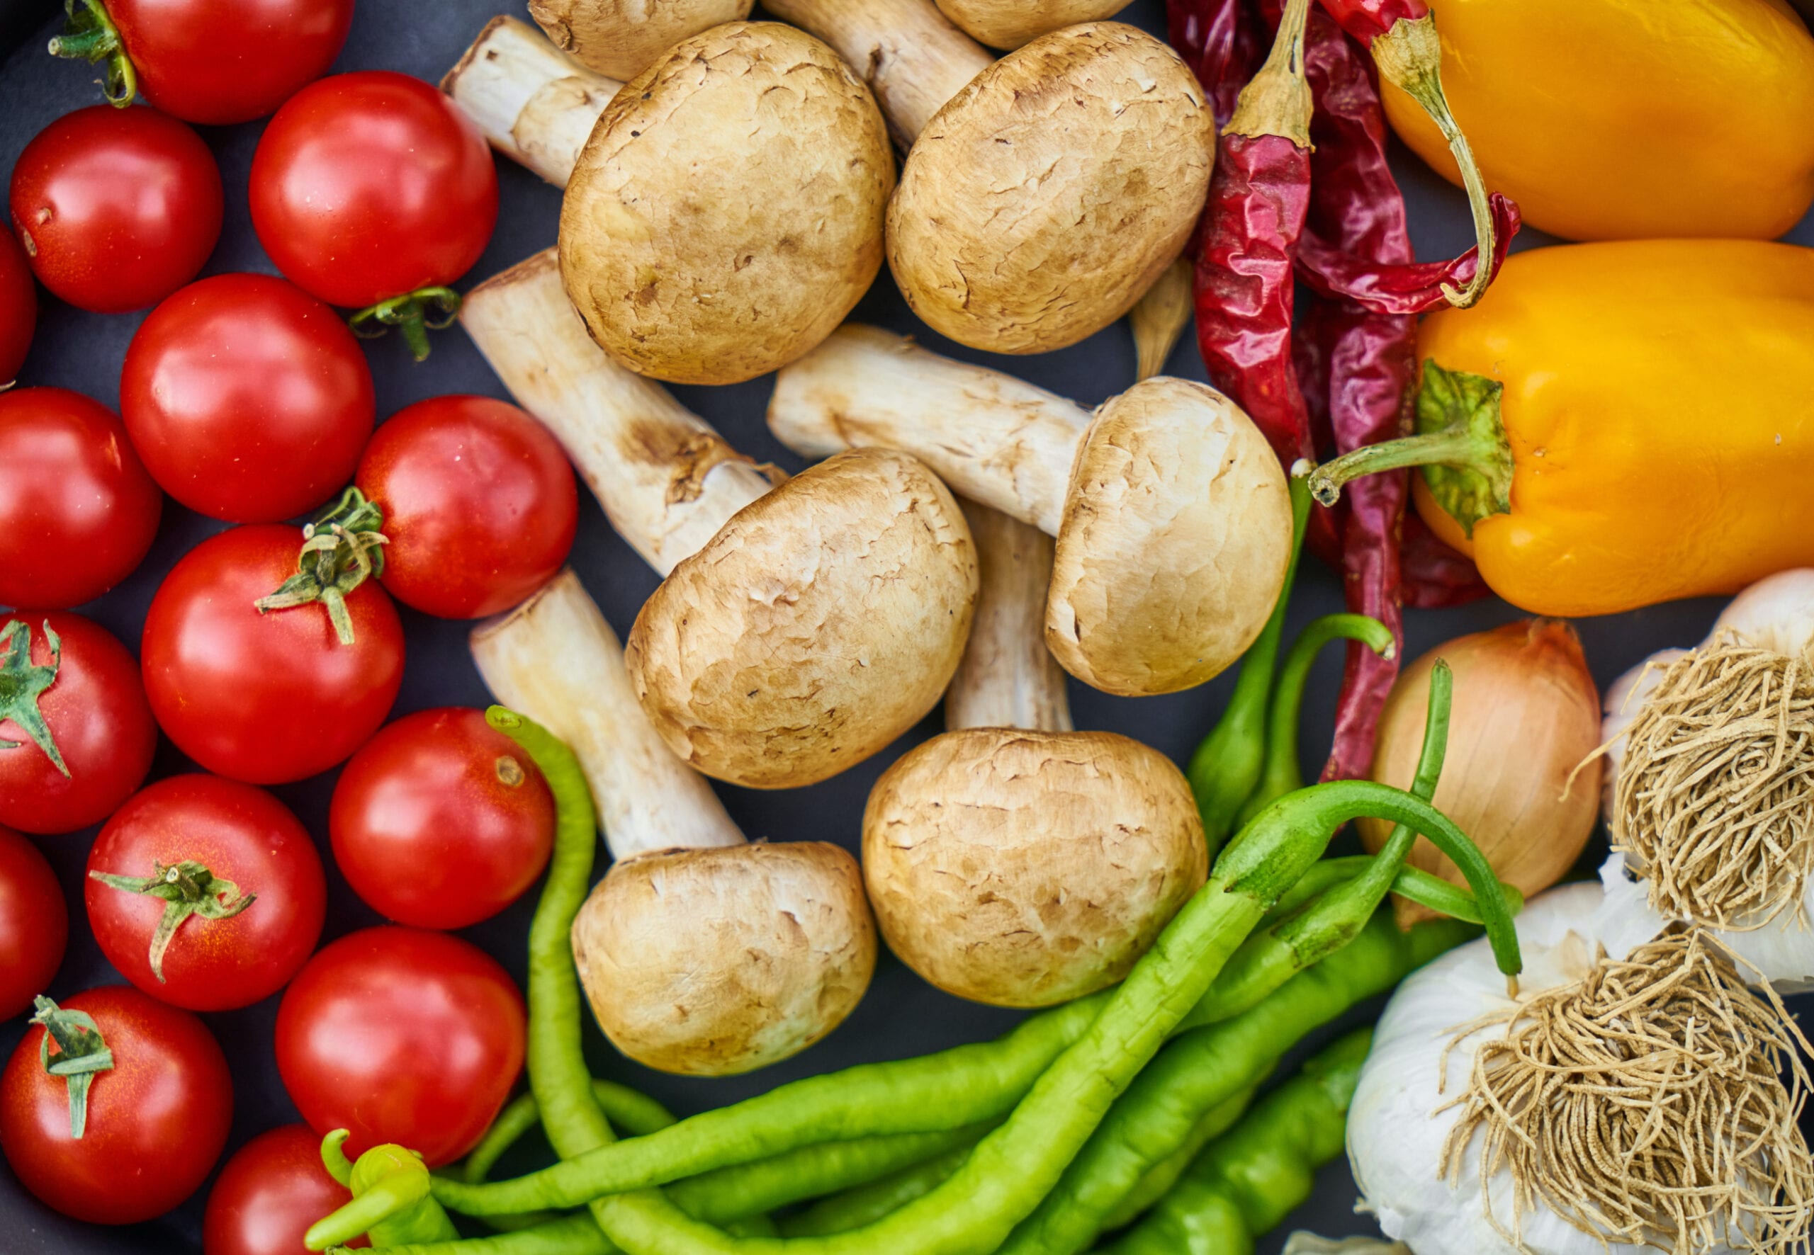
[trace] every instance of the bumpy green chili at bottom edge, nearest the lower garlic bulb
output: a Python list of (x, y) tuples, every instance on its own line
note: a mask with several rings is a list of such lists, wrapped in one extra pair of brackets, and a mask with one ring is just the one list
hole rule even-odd
[(1342, 1153), (1370, 1041), (1370, 1030), (1350, 1034), (1306, 1063), (1103, 1255), (1252, 1255), (1253, 1239), (1299, 1208), (1315, 1170)]

